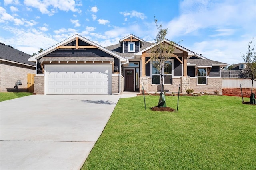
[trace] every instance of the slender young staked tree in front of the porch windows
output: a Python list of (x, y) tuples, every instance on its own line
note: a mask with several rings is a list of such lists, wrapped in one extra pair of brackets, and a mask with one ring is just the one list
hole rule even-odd
[(174, 42), (170, 41), (170, 43), (164, 42), (165, 36), (167, 34), (168, 28), (163, 29), (162, 25), (157, 24), (157, 19), (155, 17), (155, 23), (157, 28), (157, 35), (155, 39), (155, 46), (151, 49), (151, 63), (160, 75), (160, 86), (161, 92), (163, 92), (163, 75), (162, 72), (164, 68), (168, 65), (168, 59), (170, 59), (171, 55), (174, 52)]

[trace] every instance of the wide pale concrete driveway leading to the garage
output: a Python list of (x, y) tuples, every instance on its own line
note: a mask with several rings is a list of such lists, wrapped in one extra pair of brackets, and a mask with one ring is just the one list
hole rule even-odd
[(80, 169), (119, 98), (31, 95), (0, 102), (0, 169)]

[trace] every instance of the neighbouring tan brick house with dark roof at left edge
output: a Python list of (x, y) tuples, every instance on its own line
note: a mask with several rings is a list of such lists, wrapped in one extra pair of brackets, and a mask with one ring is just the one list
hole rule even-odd
[(13, 90), (17, 80), (22, 82), (18, 88), (27, 90), (28, 74), (36, 74), (36, 64), (28, 61), (30, 57), (31, 55), (14, 49), (10, 45), (0, 43), (0, 92)]

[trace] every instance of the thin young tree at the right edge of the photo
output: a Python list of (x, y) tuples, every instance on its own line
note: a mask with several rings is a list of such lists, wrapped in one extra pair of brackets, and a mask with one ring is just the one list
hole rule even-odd
[[(253, 39), (253, 38), (252, 38)], [(253, 81), (255, 81), (256, 78), (256, 51), (254, 51), (254, 47), (251, 47), (252, 40), (248, 44), (248, 50), (246, 55), (244, 53), (241, 53), (242, 58), (244, 59), (244, 63), (246, 63), (249, 76), (252, 79), (252, 88), (253, 88)], [(252, 89), (251, 89), (252, 93)]]

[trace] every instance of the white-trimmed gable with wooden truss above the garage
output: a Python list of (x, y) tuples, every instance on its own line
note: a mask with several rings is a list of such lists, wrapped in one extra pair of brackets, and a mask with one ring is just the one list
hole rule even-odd
[[(82, 45), (76, 43), (75, 45), (72, 45), (72, 42), (74, 41), (78, 41), (78, 42), (82, 42)], [(97, 48), (97, 49), (100, 49), (114, 57), (117, 57), (118, 59), (120, 59), (120, 61), (126, 61), (126, 59), (116, 53), (113, 53), (112, 51), (102, 47), (101, 45), (98, 45), (97, 43), (94, 43), (93, 41), (90, 41), (89, 39), (86, 39), (78, 34), (76, 35), (73, 35), (72, 37), (44, 50), (43, 52), (37, 54), (37, 55), (34, 55), (33, 57), (30, 57), (28, 59), (28, 61), (36, 61), (37, 59), (49, 54), (49, 53), (52, 53), (53, 51), (57, 50), (57, 49), (60, 49), (60, 48), (75, 48), (75, 49), (79, 49), (79, 48)]]

